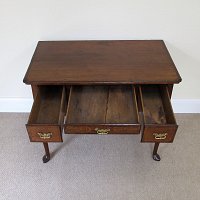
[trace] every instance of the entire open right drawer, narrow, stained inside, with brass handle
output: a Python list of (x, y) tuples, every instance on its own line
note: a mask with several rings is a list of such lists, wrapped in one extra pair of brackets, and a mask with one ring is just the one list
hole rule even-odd
[(178, 126), (167, 86), (142, 85), (139, 99), (143, 110), (142, 142), (173, 142)]

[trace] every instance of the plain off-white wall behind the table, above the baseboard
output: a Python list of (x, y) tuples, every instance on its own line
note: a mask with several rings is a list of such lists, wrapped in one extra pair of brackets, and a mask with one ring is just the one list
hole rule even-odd
[(163, 39), (183, 79), (173, 98), (200, 100), (199, 0), (0, 0), (0, 98), (31, 98), (38, 40), (76, 39)]

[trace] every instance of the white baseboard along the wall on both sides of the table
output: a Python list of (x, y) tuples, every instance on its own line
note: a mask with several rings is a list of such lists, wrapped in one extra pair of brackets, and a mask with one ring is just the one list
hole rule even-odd
[[(30, 112), (29, 98), (0, 98), (0, 112)], [(172, 99), (175, 113), (200, 113), (200, 99)]]

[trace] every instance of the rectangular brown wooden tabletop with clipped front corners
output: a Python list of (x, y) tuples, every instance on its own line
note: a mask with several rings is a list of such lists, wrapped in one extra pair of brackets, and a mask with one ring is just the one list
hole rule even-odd
[(26, 84), (173, 84), (181, 77), (162, 40), (40, 41)]

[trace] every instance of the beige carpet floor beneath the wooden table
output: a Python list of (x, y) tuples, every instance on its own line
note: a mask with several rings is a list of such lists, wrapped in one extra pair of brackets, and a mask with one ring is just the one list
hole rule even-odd
[(27, 113), (0, 113), (1, 200), (188, 200), (200, 199), (200, 114), (177, 114), (173, 144), (153, 144), (140, 135), (64, 135), (50, 144), (30, 143)]

